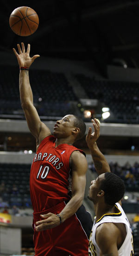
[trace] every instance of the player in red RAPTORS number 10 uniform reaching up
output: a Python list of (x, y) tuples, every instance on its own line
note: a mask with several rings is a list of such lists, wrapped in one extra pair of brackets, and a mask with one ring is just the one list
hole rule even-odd
[[(33, 105), (29, 81), (29, 67), (39, 55), (31, 58), (30, 45), (26, 52), (24, 43), (21, 45), (22, 48), (18, 44), (19, 53), (13, 48), (20, 67), (20, 99), (28, 127), (37, 142), (30, 174), (35, 256), (87, 256), (93, 225), (82, 205), (87, 161), (83, 151), (72, 146), (82, 138), (86, 126), (74, 115), (66, 115), (56, 122), (51, 135)], [(100, 135), (100, 125), (96, 119), (93, 125), (95, 141)]]

